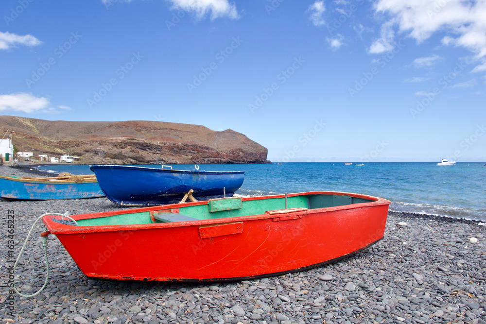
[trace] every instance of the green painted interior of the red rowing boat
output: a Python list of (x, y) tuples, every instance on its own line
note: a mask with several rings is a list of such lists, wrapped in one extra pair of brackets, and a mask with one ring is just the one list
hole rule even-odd
[[(287, 198), (266, 198), (242, 201), (240, 197), (211, 199), (208, 204), (188, 205), (179, 208), (160, 206), (156, 211), (131, 212), (108, 217), (90, 218), (77, 221), (79, 226), (133, 225), (161, 222), (188, 222), (220, 219), (228, 217), (286, 213), (307, 209), (370, 203), (375, 200), (351, 197), (348, 195), (299, 195)], [(287, 207), (287, 208), (286, 208)]]

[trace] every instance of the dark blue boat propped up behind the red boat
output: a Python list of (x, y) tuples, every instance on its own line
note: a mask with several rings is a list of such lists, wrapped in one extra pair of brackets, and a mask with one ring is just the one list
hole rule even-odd
[[(172, 167), (171, 167), (172, 168)], [(232, 197), (244, 171), (184, 171), (94, 165), (91, 168), (106, 197), (118, 205), (149, 206), (179, 203), (191, 189), (197, 200)]]

